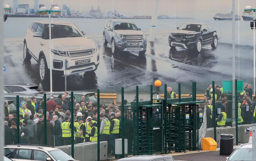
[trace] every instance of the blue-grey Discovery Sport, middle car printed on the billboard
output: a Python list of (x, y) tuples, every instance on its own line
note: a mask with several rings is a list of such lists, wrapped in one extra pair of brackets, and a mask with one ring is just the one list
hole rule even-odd
[(133, 22), (109, 20), (103, 30), (103, 44), (111, 44), (112, 53), (119, 51), (139, 51), (146, 53), (147, 39)]

